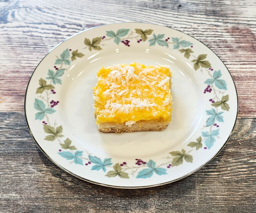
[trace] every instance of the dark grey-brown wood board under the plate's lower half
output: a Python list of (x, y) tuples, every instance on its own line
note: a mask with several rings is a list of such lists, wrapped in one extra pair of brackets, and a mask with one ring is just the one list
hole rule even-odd
[(71, 176), (39, 150), (22, 112), (1, 112), (0, 117), (0, 212), (255, 213), (255, 118), (238, 119), (224, 149), (196, 173), (130, 190)]

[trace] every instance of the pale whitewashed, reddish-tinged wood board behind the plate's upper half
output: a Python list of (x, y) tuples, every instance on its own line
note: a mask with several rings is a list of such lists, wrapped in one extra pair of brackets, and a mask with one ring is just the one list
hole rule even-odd
[(62, 40), (101, 24), (139, 21), (181, 30), (210, 47), (235, 80), (239, 117), (255, 117), (255, 11), (255, 0), (0, 1), (0, 111), (23, 111), (34, 68)]

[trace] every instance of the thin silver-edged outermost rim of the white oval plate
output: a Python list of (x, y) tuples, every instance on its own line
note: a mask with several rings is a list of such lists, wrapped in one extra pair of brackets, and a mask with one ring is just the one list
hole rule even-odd
[(84, 32), (86, 32), (86, 31), (88, 31), (88, 30), (92, 30), (92, 29), (94, 29), (94, 28), (101, 27), (101, 26), (115, 25), (115, 24), (123, 24), (123, 23), (130, 23), (130, 24), (133, 24), (133, 23), (136, 23), (136, 24), (137, 24), (137, 23), (141, 23), (141, 24), (150, 24), (150, 25), (160, 26), (160, 27), (164, 27), (164, 28), (168, 28), (168, 29), (172, 29), (172, 30), (175, 30), (175, 31), (179, 31), (179, 32), (181, 32), (181, 33), (184, 33), (184, 32), (182, 32), (182, 31), (180, 31), (180, 30), (173, 29), (173, 28), (171, 28), (171, 27), (162, 26), (162, 25), (158, 25), (158, 24), (152, 24), (152, 23), (146, 23), (146, 22), (117, 22), (117, 23), (103, 24), (103, 25), (91, 27), (91, 28), (88, 28), (88, 29), (79, 31), (78, 33), (75, 33), (75, 34), (69, 36), (68, 38), (64, 39), (63, 41), (61, 41), (60, 43), (58, 43), (56, 46), (54, 46), (54, 47), (41, 59), (41, 61), (40, 61), (40, 62), (38, 63), (38, 65), (35, 67), (33, 73), (32, 73), (31, 76), (30, 76), (30, 79), (29, 79), (28, 84), (27, 84), (26, 92), (25, 92), (25, 99), (24, 99), (24, 112), (25, 112), (25, 119), (26, 119), (27, 127), (28, 127), (28, 130), (29, 130), (29, 132), (30, 132), (32, 138), (34, 139), (36, 145), (39, 147), (39, 149), (44, 153), (44, 155), (45, 155), (48, 159), (50, 159), (55, 165), (57, 165), (59, 168), (61, 168), (61, 169), (64, 170), (65, 172), (67, 172), (67, 173), (69, 173), (69, 174), (71, 174), (71, 175), (73, 175), (73, 176), (75, 176), (75, 177), (77, 177), (77, 178), (79, 178), (79, 179), (81, 179), (81, 180), (84, 180), (84, 181), (87, 181), (87, 182), (89, 182), (89, 183), (93, 183), (93, 184), (96, 184), (96, 185), (101, 185), (101, 186), (110, 187), (110, 188), (125, 188), (125, 189), (150, 188), (150, 187), (156, 187), (156, 186), (161, 186), (161, 185), (169, 184), (169, 183), (172, 183), (172, 182), (181, 180), (181, 179), (183, 179), (183, 178), (185, 178), (185, 177), (188, 177), (189, 175), (191, 175), (191, 174), (193, 174), (194, 172), (198, 171), (199, 169), (201, 169), (202, 167), (204, 167), (205, 165), (207, 165), (210, 161), (212, 161), (212, 160), (221, 152), (221, 150), (224, 148), (224, 146), (227, 144), (227, 142), (228, 142), (228, 140), (229, 140), (231, 134), (233, 133), (233, 130), (234, 130), (235, 125), (236, 125), (236, 122), (237, 122), (237, 117), (238, 117), (238, 108), (239, 108), (239, 105), (238, 105), (237, 89), (236, 89), (236, 85), (235, 85), (234, 79), (233, 79), (233, 77), (232, 77), (230, 71), (228, 70), (228, 68), (226, 67), (226, 65), (224, 64), (224, 62), (220, 59), (220, 57), (219, 57), (211, 48), (209, 48), (209, 47), (208, 47), (207, 45), (205, 45), (203, 42), (199, 41), (198, 39), (194, 38), (193, 36), (190, 36), (190, 35), (187, 34), (187, 33), (184, 33), (184, 34), (186, 34), (187, 36), (189, 36), (189, 37), (191, 37), (191, 38), (194, 38), (194, 39), (196, 39), (198, 42), (202, 43), (202, 44), (203, 44), (205, 47), (207, 47), (211, 52), (213, 52), (213, 53), (218, 57), (218, 59), (222, 62), (222, 64), (223, 64), (223, 65), (225, 66), (225, 68), (227, 69), (227, 71), (228, 71), (228, 73), (229, 73), (229, 75), (230, 75), (230, 77), (231, 77), (231, 79), (232, 79), (232, 81), (233, 81), (233, 84), (234, 84), (234, 87), (235, 87), (235, 91), (236, 91), (236, 98), (237, 98), (237, 100), (236, 100), (236, 101), (237, 101), (236, 119), (235, 119), (234, 125), (233, 125), (233, 127), (232, 127), (232, 130), (230, 131), (230, 134), (229, 134), (227, 140), (225, 141), (225, 143), (221, 146), (221, 148), (216, 152), (216, 154), (215, 154), (213, 157), (211, 157), (211, 158), (210, 158), (208, 161), (206, 161), (203, 165), (201, 165), (200, 167), (196, 168), (196, 169), (193, 170), (192, 172), (190, 172), (190, 173), (188, 173), (188, 174), (186, 174), (186, 175), (183, 175), (183, 176), (181, 176), (181, 177), (179, 177), (179, 178), (176, 178), (176, 179), (174, 179), (174, 180), (171, 180), (171, 181), (167, 181), (167, 182), (159, 183), (159, 184), (153, 184), (153, 185), (145, 185), (145, 186), (116, 186), (116, 185), (104, 184), (104, 183), (99, 183), (99, 182), (95, 182), (95, 181), (92, 181), (92, 180), (88, 180), (88, 179), (86, 179), (86, 178), (84, 178), (84, 177), (81, 177), (81, 176), (79, 176), (79, 175), (74, 174), (73, 172), (67, 170), (66, 168), (62, 167), (59, 163), (57, 163), (55, 160), (53, 160), (53, 159), (41, 148), (41, 146), (39, 145), (39, 143), (36, 141), (36, 139), (35, 139), (33, 133), (31, 132), (31, 129), (30, 129), (30, 127), (29, 127), (29, 124), (28, 124), (28, 118), (27, 118), (27, 113), (26, 113), (27, 91), (28, 91), (28, 87), (29, 87), (30, 80), (31, 80), (33, 74), (35, 73), (37, 67), (41, 64), (41, 62), (42, 62), (56, 47), (58, 47), (58, 46), (61, 45), (63, 42), (67, 41), (68, 39), (70, 39), (70, 38), (72, 38), (72, 37), (74, 37), (74, 36), (76, 36), (76, 35), (78, 35), (78, 34), (80, 34), (80, 33), (84, 33)]

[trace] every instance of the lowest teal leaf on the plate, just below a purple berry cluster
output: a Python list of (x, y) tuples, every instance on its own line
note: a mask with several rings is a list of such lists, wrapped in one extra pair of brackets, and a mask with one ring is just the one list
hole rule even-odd
[(136, 176), (136, 178), (149, 178), (153, 175), (153, 173), (155, 172), (157, 175), (163, 175), (163, 174), (167, 174), (166, 173), (166, 169), (165, 168), (155, 168), (156, 162), (154, 162), (153, 160), (149, 160), (147, 162), (147, 169), (142, 169), (138, 175)]

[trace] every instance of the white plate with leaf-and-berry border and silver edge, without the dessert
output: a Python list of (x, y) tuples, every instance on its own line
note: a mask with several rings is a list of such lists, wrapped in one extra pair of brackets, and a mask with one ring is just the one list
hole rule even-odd
[[(99, 132), (96, 72), (134, 61), (170, 66), (172, 122), (156, 132)], [(237, 111), (233, 79), (214, 52), (180, 31), (144, 23), (69, 37), (36, 67), (25, 98), (29, 130), (47, 157), (78, 178), (119, 188), (162, 185), (197, 171), (224, 147)]]

